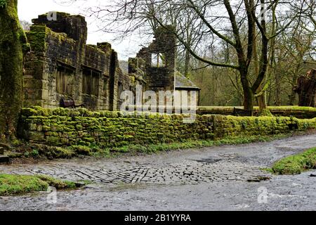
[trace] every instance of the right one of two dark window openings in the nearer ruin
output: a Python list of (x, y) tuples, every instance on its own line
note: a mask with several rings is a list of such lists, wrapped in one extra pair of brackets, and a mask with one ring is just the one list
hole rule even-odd
[(82, 70), (82, 92), (84, 94), (98, 96), (100, 75), (100, 72), (96, 72), (90, 68)]

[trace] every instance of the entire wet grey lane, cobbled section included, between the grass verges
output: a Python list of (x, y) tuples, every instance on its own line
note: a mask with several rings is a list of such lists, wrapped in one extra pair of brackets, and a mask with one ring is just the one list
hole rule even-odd
[(316, 134), (111, 159), (0, 165), (0, 173), (48, 174), (93, 183), (77, 191), (0, 197), (0, 210), (315, 210), (315, 172), (275, 176), (261, 168), (316, 146)]

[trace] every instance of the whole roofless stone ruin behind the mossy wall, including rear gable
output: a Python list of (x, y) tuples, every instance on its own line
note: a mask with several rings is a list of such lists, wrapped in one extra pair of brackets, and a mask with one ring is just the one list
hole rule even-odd
[[(32, 52), (25, 57), (25, 107), (56, 108), (68, 99), (90, 110), (118, 110), (122, 91), (199, 91), (176, 72), (176, 37), (159, 29), (148, 48), (129, 59), (123, 72), (109, 43), (86, 44), (81, 15), (47, 14), (32, 20), (27, 32)], [(65, 103), (65, 102), (64, 102)]]

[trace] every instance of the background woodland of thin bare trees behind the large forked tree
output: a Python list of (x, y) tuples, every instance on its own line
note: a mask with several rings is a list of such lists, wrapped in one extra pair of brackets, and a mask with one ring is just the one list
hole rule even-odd
[[(277, 14), (275, 14), (275, 25), (273, 23), (267, 25), (268, 32), (280, 29), (279, 34), (269, 41), (268, 46), (269, 69), (263, 82), (266, 84), (267, 105), (297, 105), (298, 95), (294, 92), (294, 87), (297, 85), (298, 77), (305, 76), (308, 70), (316, 68), (315, 1), (309, 1), (309, 5), (304, 5), (304, 2), (298, 1), (298, 4), (305, 6), (306, 15), (311, 13), (310, 16), (296, 15), (290, 21), (290, 25), (278, 28), (281, 26), (279, 21), (284, 15), (279, 14), (281, 18), (277, 18)], [(268, 13), (269, 16), (272, 17), (272, 13)], [(272, 21), (272, 18), (269, 21)], [(247, 27), (242, 27), (239, 32), (242, 39), (246, 41)], [(247, 43), (243, 44), (246, 46)], [(204, 58), (237, 61), (234, 50), (224, 41), (204, 46), (204, 49), (201, 49), (204, 52)], [(178, 51), (178, 70), (202, 89), (200, 105), (244, 105), (244, 94), (237, 70), (211, 66), (192, 56), (190, 56), (190, 60), (185, 60), (185, 53), (185, 49)], [(187, 62), (190, 65), (185, 65)], [(186, 67), (189, 69), (185, 69)], [(254, 64), (250, 65), (249, 80), (251, 84), (256, 80), (254, 70)], [(254, 105), (258, 105), (258, 101), (255, 100)]]

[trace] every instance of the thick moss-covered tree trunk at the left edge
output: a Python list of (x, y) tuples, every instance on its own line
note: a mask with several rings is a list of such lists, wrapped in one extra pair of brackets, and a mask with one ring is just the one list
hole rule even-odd
[(27, 40), (18, 20), (18, 0), (0, 6), (0, 142), (15, 139), (23, 102), (23, 52)]

